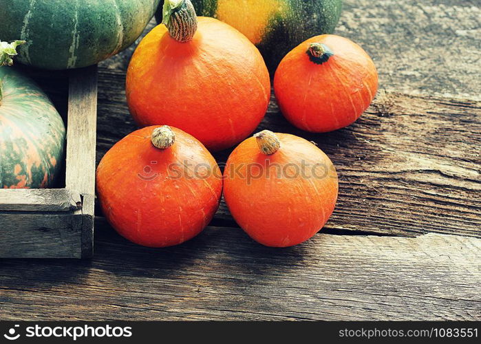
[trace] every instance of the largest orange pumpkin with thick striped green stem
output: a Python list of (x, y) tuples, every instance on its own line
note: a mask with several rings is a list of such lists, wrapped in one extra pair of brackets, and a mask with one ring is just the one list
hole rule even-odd
[(208, 149), (232, 147), (264, 117), (270, 78), (259, 50), (190, 0), (166, 0), (164, 23), (138, 45), (127, 101), (138, 125), (172, 125)]

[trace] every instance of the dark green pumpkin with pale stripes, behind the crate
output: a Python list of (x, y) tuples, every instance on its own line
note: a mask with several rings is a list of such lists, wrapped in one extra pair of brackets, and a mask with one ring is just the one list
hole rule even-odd
[(160, 0), (0, 0), (0, 39), (27, 41), (17, 61), (45, 69), (94, 65), (140, 36)]

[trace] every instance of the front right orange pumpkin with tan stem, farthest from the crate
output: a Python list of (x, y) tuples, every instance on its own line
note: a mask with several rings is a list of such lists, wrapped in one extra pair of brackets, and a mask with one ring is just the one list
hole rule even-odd
[(336, 204), (334, 165), (311, 142), (261, 131), (229, 156), (224, 199), (235, 221), (260, 244), (300, 244), (328, 221)]

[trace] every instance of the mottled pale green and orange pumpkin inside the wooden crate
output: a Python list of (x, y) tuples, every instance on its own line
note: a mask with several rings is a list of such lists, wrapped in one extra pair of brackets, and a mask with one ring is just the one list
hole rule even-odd
[(49, 98), (21, 72), (0, 67), (0, 82), (0, 187), (50, 187), (63, 161), (63, 120)]

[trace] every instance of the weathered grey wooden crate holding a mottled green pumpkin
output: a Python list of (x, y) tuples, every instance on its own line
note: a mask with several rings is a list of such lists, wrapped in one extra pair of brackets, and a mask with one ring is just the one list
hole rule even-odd
[(61, 189), (0, 189), (0, 258), (92, 257), (97, 67), (32, 72), (36, 73), (41, 74), (37, 79), (47, 78), (46, 83), (50, 78), (64, 78), (68, 85), (62, 95), (67, 103), (63, 111), (67, 122), (65, 183)]

